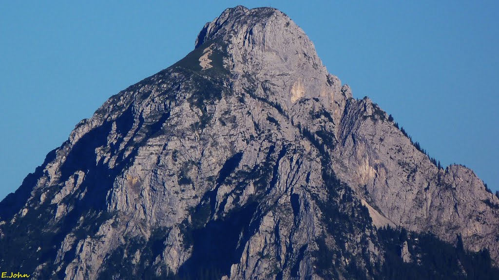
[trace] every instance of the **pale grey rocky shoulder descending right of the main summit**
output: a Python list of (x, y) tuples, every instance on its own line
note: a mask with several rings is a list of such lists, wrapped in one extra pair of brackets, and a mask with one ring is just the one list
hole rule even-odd
[(340, 129), (335, 171), (398, 226), (488, 248), (498, 260), (499, 199), (462, 165), (439, 169), (369, 99), (352, 102)]

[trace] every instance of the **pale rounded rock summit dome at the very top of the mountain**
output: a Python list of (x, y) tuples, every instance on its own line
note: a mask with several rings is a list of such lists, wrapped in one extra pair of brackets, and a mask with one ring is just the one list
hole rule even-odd
[[(303, 30), (274, 8), (226, 9), (203, 27), (196, 48), (202, 48), (210, 60), (214, 50), (224, 53), (224, 65), (233, 75), (260, 82), (265, 92), (274, 95), (264, 97), (283, 108), (292, 107), (300, 98), (317, 98), (331, 108), (335, 98), (344, 102), (345, 96), (351, 97), (350, 91), (335, 97), (341, 92), (339, 79), (328, 74)], [(247, 79), (238, 82), (242, 87), (253, 83)]]

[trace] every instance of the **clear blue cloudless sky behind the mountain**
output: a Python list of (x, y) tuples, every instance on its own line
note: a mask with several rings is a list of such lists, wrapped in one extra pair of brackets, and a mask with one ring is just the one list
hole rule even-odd
[(498, 3), (1, 1), (0, 198), (81, 119), (184, 57), (207, 21), (238, 4), (287, 13), (354, 97), (499, 190)]

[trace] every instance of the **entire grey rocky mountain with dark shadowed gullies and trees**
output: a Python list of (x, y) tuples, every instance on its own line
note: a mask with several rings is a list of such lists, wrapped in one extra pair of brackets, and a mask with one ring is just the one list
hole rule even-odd
[(498, 279), (499, 199), (354, 99), (273, 8), (112, 96), (0, 203), (32, 279)]

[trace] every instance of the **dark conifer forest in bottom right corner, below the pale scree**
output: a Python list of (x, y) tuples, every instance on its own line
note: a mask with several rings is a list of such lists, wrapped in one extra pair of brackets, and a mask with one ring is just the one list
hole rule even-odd
[[(385, 262), (377, 279), (400, 280), (493, 280), (499, 270), (492, 266), (487, 250), (467, 252), (458, 237), (456, 246), (432, 234), (408, 233), (404, 229), (378, 231), (385, 249)], [(407, 242), (411, 262), (404, 263), (401, 248)]]

